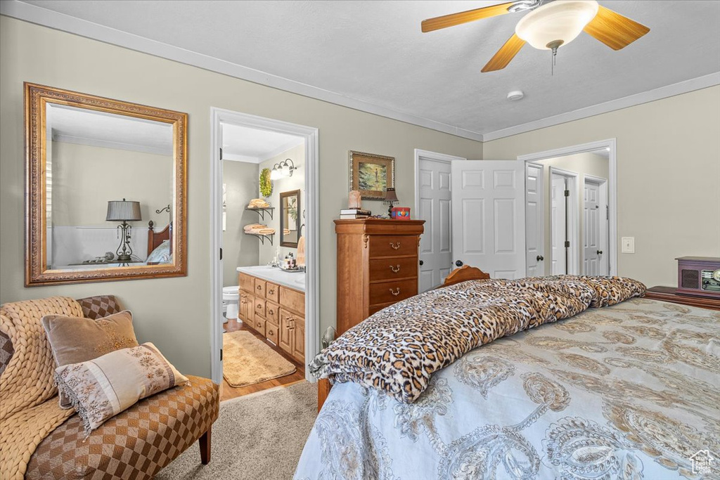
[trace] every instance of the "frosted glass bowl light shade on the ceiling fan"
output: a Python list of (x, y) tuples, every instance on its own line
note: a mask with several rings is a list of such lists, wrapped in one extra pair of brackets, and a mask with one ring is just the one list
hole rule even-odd
[(515, 32), (538, 50), (551, 50), (575, 40), (596, 14), (595, 0), (555, 0), (526, 14)]

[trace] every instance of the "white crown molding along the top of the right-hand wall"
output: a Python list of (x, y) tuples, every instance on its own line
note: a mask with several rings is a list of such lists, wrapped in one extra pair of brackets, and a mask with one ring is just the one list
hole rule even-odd
[(613, 112), (615, 110), (634, 107), (635, 105), (647, 104), (650, 101), (666, 99), (670, 96), (687, 94), (690, 91), (706, 89), (710, 86), (720, 85), (720, 72), (710, 73), (709, 75), (690, 78), (690, 80), (672, 83), (671, 85), (661, 86), (660, 88), (643, 91), (639, 94), (625, 96), (621, 99), (606, 101), (602, 104), (591, 105), (572, 112), (546, 117), (544, 119), (534, 120), (533, 122), (523, 123), (515, 127), (504, 128), (503, 130), (495, 130), (482, 135), (483, 142), (498, 140), (498, 138), (511, 137), (520, 133), (531, 132), (532, 130), (540, 130), (541, 128), (553, 127), (562, 123), (573, 122), (588, 117), (595, 117), (603, 113)]

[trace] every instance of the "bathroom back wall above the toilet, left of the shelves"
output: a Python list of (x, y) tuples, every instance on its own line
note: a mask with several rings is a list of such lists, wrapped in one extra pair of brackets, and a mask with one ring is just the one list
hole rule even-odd
[(258, 214), (245, 209), (248, 201), (258, 196), (258, 175), (257, 163), (222, 162), (222, 183), (227, 187), (225, 232), (222, 232), (222, 286), (238, 284), (235, 268), (258, 265), (259, 240), (243, 232), (243, 226), (258, 221)]

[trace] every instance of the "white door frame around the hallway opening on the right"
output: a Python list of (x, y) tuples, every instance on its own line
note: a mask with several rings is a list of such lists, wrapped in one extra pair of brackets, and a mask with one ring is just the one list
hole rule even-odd
[(610, 178), (608, 178), (608, 205), (610, 206), (608, 237), (611, 238), (611, 241), (608, 241), (608, 256), (610, 260), (610, 275), (618, 274), (618, 173), (616, 143), (616, 139), (609, 138), (608, 140), (598, 140), (597, 142), (583, 143), (581, 145), (572, 145), (570, 147), (518, 156), (518, 160), (533, 161), (562, 157), (564, 155), (572, 155), (573, 153), (592, 152), (593, 150), (602, 150), (603, 148), (608, 150), (608, 171), (610, 173)]

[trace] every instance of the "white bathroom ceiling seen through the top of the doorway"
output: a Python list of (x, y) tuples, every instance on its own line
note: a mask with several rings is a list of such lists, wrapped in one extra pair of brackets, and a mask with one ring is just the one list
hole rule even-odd
[(304, 142), (302, 137), (222, 124), (222, 158), (260, 163)]

